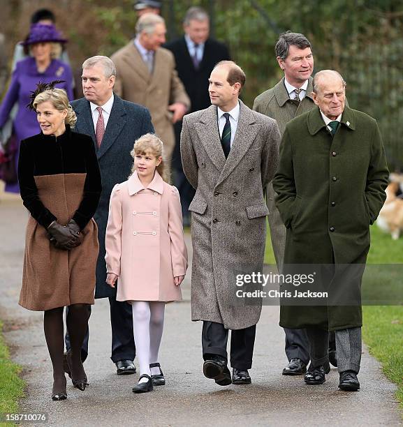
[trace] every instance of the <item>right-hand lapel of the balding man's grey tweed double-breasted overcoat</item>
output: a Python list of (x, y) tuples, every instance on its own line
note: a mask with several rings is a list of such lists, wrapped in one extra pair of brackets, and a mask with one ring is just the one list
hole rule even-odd
[(255, 124), (254, 113), (240, 100), (240, 117), (238, 119), (237, 131), (235, 133), (230, 153), (228, 154), (228, 158), (224, 164), (224, 169), (222, 170), (217, 183), (224, 181), (224, 179), (226, 179), (233, 171), (235, 166), (240, 163), (240, 160), (245, 153), (247, 153), (252, 142), (254, 142), (256, 135), (258, 134), (258, 129), (259, 125), (257, 123)]

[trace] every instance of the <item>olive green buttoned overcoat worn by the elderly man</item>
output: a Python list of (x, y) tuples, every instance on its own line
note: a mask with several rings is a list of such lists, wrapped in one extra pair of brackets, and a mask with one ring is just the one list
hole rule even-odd
[[(290, 121), (273, 180), (287, 228), (284, 263), (365, 264), (369, 225), (386, 199), (387, 185), (381, 134), (372, 117), (345, 107), (334, 137), (318, 107)], [(329, 289), (339, 280), (336, 274)], [(360, 284), (361, 276), (348, 285), (359, 293)], [(361, 306), (281, 306), (280, 325), (360, 327)]]

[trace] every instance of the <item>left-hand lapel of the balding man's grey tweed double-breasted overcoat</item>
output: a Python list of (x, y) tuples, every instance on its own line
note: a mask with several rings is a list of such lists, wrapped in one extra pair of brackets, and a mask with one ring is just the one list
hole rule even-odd
[(212, 163), (218, 170), (222, 170), (226, 163), (226, 157), (221, 147), (219, 126), (217, 123), (217, 107), (210, 105), (195, 123), (195, 129)]

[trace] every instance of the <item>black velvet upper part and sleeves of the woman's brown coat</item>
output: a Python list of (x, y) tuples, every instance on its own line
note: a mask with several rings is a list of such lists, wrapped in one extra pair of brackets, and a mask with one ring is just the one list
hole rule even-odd
[(18, 163), (21, 197), (31, 216), (45, 228), (57, 217), (41, 201), (35, 178), (47, 176), (51, 183), (55, 182), (52, 176), (64, 174), (85, 174), (82, 200), (72, 216), (82, 230), (94, 216), (102, 188), (91, 137), (75, 133), (66, 125), (66, 132), (59, 137), (40, 133), (22, 140)]

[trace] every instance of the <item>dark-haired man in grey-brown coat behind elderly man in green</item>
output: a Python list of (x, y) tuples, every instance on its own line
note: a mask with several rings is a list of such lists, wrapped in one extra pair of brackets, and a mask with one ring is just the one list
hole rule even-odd
[[(277, 61), (284, 77), (271, 89), (261, 93), (254, 102), (254, 110), (277, 121), (283, 135), (288, 121), (311, 110), (315, 104), (312, 99), (312, 71), (314, 57), (311, 43), (300, 33), (290, 31), (280, 35), (275, 47)], [(268, 185), (267, 203), (270, 211), (269, 226), (277, 269), (284, 264), (286, 246), (286, 227), (281, 221), (274, 203), (272, 183)], [(304, 329), (284, 328), (286, 334), (286, 356), (288, 365), (283, 375), (303, 375), (309, 363), (309, 343)], [(334, 360), (333, 360), (333, 363)]]

